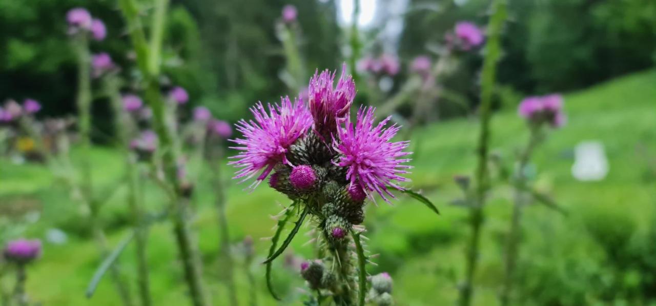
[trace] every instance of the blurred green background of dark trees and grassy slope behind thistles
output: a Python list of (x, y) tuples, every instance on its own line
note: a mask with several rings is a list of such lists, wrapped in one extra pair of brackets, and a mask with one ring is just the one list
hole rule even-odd
[[(285, 56), (274, 24), (283, 5), (298, 9), (300, 53), (309, 76), (315, 68), (338, 68), (348, 54), (344, 49), (350, 25), (340, 21), (345, 18), (346, 2), (350, 0), (172, 1), (165, 73), (188, 89), (191, 104), (207, 106), (218, 118), (232, 122), (250, 118), (247, 108), (258, 100), (273, 102), (281, 95), (297, 95), (285, 89), (279, 77)], [(360, 29), (365, 53), (396, 53), (403, 67), (414, 56), (430, 53), (432, 44), (451, 31), (455, 22), (472, 20), (484, 25), (489, 7), (489, 1), (483, 0), (362, 2), (361, 9), (375, 10), (373, 19)], [(141, 3), (148, 11), (148, 1)], [(92, 43), (92, 49), (110, 53), (121, 66), (134, 66), (115, 1), (3, 0), (0, 99), (36, 98), (44, 106), (39, 114), (43, 118), (75, 113), (75, 58), (64, 16), (77, 6), (87, 7), (108, 26), (108, 39)], [(390, 20), (401, 20), (401, 26), (394, 28)], [(397, 33), (391, 42), (382, 35), (390, 27)], [(525, 209), (517, 305), (656, 305), (656, 2), (510, 0), (502, 47), (493, 150), (510, 162), (527, 141), (528, 131), (516, 116), (516, 105), (526, 95), (564, 93), (568, 116), (567, 125), (550, 133), (533, 158), (539, 173), (537, 187), (567, 214), (539, 205)], [(464, 55), (457, 70), (443, 80), (445, 87), (466, 97), (472, 108), (478, 104), (481, 61), (477, 53)], [(126, 68), (121, 73), (135, 72)], [(394, 76), (393, 91), (407, 75), (402, 69)], [(96, 185), (112, 190), (101, 215), (110, 242), (116, 244), (127, 234), (129, 215), (123, 200), (126, 190), (115, 187), (123, 175), (123, 160), (108, 141), (112, 121), (104, 105), (102, 98), (94, 102), (97, 145), (91, 158)], [(426, 213), (420, 204), (404, 197), (393, 206), (367, 208), (369, 246), (380, 254), (370, 272), (392, 274), (398, 305), (453, 305), (463, 274), (467, 214), (449, 203), (460, 196), (453, 176), (469, 174), (474, 167), (478, 123), (454, 104), (441, 103), (440, 108), (447, 120), (413, 130), (411, 164), (415, 169), (410, 178), (411, 186), (441, 209), (441, 216)], [(400, 113), (404, 112), (410, 110), (401, 108)], [(604, 145), (609, 173), (601, 181), (572, 177), (574, 148), (581, 141)], [(199, 234), (203, 272), (215, 305), (227, 305), (220, 283), (223, 266), (218, 256), (213, 186), (205, 168), (194, 171), (200, 173), (194, 230)], [(224, 166), (226, 179), (231, 172)], [(499, 181), (494, 185), (486, 208), (476, 305), (496, 305), (502, 283), (501, 256), (512, 190)], [(247, 305), (249, 284), (244, 271), (252, 269), (258, 305), (275, 305), (264, 285), (264, 266), (258, 264), (269, 247), (261, 238), (271, 236), (275, 221), (270, 216), (289, 200), (264, 185), (252, 193), (243, 188), (231, 184), (227, 195), (239, 298)], [(148, 185), (146, 200), (156, 209), (165, 196)], [(102, 259), (79, 210), (43, 165), (0, 159), (0, 236), (43, 238), (51, 229), (68, 235), (66, 244), (45, 242), (43, 258), (30, 267), (31, 299), (43, 305), (117, 305), (108, 280), (101, 282), (92, 299), (85, 298), (87, 283)], [(154, 305), (186, 303), (170, 233), (167, 223), (154, 225), (149, 233)], [(239, 253), (245, 236), (255, 240), (257, 258), (251, 266), (245, 265)], [(311, 250), (303, 246), (307, 240), (297, 236), (289, 256), (308, 258)], [(133, 252), (129, 247), (121, 256), (129, 280), (136, 278)], [(283, 305), (300, 305), (302, 282), (295, 269), (284, 267), (283, 261), (274, 265), (277, 290), (285, 292)]]

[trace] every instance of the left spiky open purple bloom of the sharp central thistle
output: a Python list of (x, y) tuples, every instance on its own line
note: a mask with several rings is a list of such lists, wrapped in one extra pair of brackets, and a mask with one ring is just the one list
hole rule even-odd
[(268, 104), (268, 108), (269, 114), (262, 103), (258, 102), (251, 108), (255, 121), (241, 120), (236, 124), (237, 131), (244, 138), (230, 140), (239, 144), (231, 148), (243, 151), (231, 157), (237, 160), (228, 163), (241, 168), (237, 170), (235, 179), (243, 178), (241, 182), (247, 181), (264, 169), (251, 185), (252, 188), (266, 179), (276, 164), (291, 164), (285, 153), (298, 137), (312, 127), (312, 115), (302, 100), (292, 104), (289, 97), (285, 97), (281, 99), (280, 105)]

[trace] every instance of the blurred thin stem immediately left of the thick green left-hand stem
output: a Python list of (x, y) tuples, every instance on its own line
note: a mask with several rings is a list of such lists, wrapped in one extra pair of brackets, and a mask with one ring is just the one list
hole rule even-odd
[(139, 186), (139, 165), (134, 160), (133, 154), (129, 150), (129, 128), (131, 120), (129, 115), (123, 110), (123, 103), (119, 93), (119, 79), (110, 75), (106, 79), (108, 91), (112, 101), (114, 111), (114, 125), (121, 140), (123, 154), (125, 158), (125, 169), (127, 171), (128, 194), (127, 202), (132, 215), (134, 228), (134, 238), (136, 243), (136, 265), (137, 265), (137, 284), (139, 289), (139, 298), (142, 306), (150, 306), (152, 299), (150, 296), (150, 281), (148, 279), (148, 257), (146, 247), (148, 240), (148, 231), (143, 224), (143, 201), (140, 196)]

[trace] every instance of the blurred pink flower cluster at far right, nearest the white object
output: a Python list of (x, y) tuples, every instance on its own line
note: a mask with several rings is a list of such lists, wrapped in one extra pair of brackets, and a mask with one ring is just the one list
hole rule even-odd
[(558, 94), (524, 98), (520, 103), (518, 113), (522, 118), (535, 125), (548, 123), (552, 127), (562, 127), (565, 124), (563, 97)]

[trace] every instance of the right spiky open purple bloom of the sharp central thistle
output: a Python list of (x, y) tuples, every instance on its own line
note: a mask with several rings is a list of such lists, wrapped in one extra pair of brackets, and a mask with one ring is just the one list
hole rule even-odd
[(405, 169), (409, 165), (409, 158), (401, 158), (411, 154), (403, 152), (409, 141), (390, 142), (392, 137), (399, 131), (397, 125), (385, 127), (391, 117), (380, 121), (374, 127), (375, 108), (360, 108), (358, 110), (358, 121), (356, 125), (346, 122), (346, 127), (338, 129), (339, 141), (334, 141), (334, 148), (341, 154), (337, 165), (348, 167), (346, 179), (351, 184), (359, 184), (364, 190), (378, 192), (386, 202), (386, 194), (394, 198), (387, 186), (403, 190), (403, 187), (392, 181), (409, 181), (401, 174), (408, 173)]

